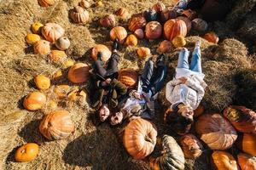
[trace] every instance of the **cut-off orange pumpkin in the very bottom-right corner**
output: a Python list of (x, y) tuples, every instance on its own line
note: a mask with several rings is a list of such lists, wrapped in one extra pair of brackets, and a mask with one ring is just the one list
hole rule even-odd
[(256, 169), (256, 157), (250, 156), (244, 153), (240, 153), (237, 156), (238, 164), (241, 170), (255, 170)]

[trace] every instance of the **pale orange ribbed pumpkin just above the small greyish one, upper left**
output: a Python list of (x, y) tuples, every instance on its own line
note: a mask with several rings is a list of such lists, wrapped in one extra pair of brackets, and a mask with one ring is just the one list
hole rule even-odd
[(62, 37), (65, 30), (58, 24), (47, 23), (42, 28), (42, 34), (44, 38), (49, 42), (55, 42), (57, 39)]

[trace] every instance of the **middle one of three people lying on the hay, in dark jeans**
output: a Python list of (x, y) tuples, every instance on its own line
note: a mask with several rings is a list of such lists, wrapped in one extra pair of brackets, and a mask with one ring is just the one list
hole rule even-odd
[(117, 125), (125, 119), (140, 116), (145, 119), (154, 118), (154, 99), (164, 86), (167, 66), (165, 56), (161, 54), (154, 68), (154, 62), (148, 59), (142, 75), (139, 77), (137, 90), (131, 90), (126, 99), (119, 103), (119, 112), (110, 116), (110, 124)]

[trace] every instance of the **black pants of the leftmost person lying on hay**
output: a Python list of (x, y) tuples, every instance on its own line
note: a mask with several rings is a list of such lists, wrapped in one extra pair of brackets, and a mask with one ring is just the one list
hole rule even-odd
[(110, 59), (108, 60), (107, 69), (105, 69), (102, 60), (97, 59), (93, 65), (96, 76), (98, 76), (100, 79), (116, 78), (118, 73), (118, 60), (119, 54), (113, 52)]

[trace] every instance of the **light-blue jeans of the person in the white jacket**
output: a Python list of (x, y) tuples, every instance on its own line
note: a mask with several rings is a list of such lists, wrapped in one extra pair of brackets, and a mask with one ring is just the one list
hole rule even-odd
[(187, 48), (183, 49), (178, 54), (177, 68), (188, 69), (195, 72), (201, 71), (201, 50), (195, 48), (191, 58), (191, 64), (189, 69), (189, 51)]

